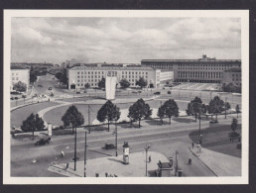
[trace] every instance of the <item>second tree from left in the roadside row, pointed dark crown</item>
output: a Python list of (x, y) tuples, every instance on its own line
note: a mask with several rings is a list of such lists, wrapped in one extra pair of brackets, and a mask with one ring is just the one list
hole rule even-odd
[(64, 126), (72, 126), (72, 134), (73, 130), (76, 130), (77, 126), (81, 126), (82, 124), (84, 124), (83, 115), (77, 110), (74, 105), (71, 105), (65, 111), (62, 121), (64, 122)]

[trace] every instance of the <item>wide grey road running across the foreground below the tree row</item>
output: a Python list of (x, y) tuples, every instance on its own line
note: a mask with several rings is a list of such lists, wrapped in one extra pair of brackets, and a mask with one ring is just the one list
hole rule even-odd
[[(230, 124), (230, 120), (221, 120), (221, 124)], [(201, 128), (207, 128), (208, 123), (202, 123)], [(214, 125), (213, 127), (217, 127)], [(167, 157), (175, 157), (179, 150), (179, 165), (186, 176), (214, 176), (214, 174), (195, 156), (189, 146), (189, 134), (197, 130), (197, 123), (170, 127), (169, 125), (158, 128), (134, 129), (118, 133), (118, 154), (122, 153), (123, 142), (130, 145), (130, 152), (143, 151), (146, 143), (152, 145), (152, 151), (158, 151)], [(136, 131), (135, 131), (136, 130)], [(11, 146), (11, 175), (12, 176), (60, 176), (47, 170), (53, 161), (68, 162), (73, 157), (73, 136), (53, 137), (50, 145), (35, 146), (34, 142), (14, 142)], [(115, 144), (112, 132), (91, 133), (87, 135), (87, 159), (102, 156), (114, 156), (115, 149), (103, 149), (106, 143)], [(60, 156), (64, 150), (65, 156)], [(77, 131), (77, 156), (83, 160), (84, 133)], [(187, 162), (192, 156), (192, 167)], [(33, 159), (37, 163), (32, 163)]]

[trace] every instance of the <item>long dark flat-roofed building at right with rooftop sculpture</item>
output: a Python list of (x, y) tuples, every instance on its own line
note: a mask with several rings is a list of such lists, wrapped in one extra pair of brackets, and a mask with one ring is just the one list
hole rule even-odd
[(221, 83), (225, 70), (241, 69), (241, 60), (202, 55), (199, 59), (142, 59), (141, 65), (174, 71), (174, 80), (178, 82)]

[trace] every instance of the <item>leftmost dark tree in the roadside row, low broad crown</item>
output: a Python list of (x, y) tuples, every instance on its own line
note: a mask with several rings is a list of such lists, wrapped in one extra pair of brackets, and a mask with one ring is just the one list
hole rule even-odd
[(35, 131), (42, 131), (45, 128), (44, 120), (32, 113), (25, 121), (23, 121), (21, 129), (24, 132), (32, 132), (34, 136)]

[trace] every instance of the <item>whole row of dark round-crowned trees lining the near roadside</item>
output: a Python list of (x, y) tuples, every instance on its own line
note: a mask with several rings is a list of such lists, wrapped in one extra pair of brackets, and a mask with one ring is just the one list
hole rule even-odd
[[(197, 118), (200, 118), (201, 115), (214, 114), (217, 119), (217, 115), (222, 113), (225, 110), (230, 109), (229, 103), (224, 103), (218, 96), (215, 96), (210, 100), (208, 105), (202, 103), (201, 99), (195, 97), (189, 104), (187, 114), (189, 116), (194, 116), (195, 121)], [(239, 105), (236, 106), (237, 116), (240, 112)], [(111, 101), (107, 101), (97, 112), (97, 120), (100, 123), (107, 121), (108, 131), (110, 122), (117, 122), (120, 119), (120, 108), (118, 108)], [(133, 122), (139, 122), (139, 128), (141, 127), (141, 121), (143, 119), (150, 119), (152, 116), (152, 109), (149, 104), (145, 103), (143, 99), (139, 99), (134, 104), (129, 107), (128, 118), (130, 119), (131, 124)], [(169, 99), (158, 109), (157, 116), (161, 119), (163, 124), (163, 119), (168, 118), (169, 124), (171, 125), (172, 117), (179, 117), (179, 106), (174, 99)], [(64, 127), (71, 126), (72, 131), (74, 128), (84, 124), (83, 115), (77, 110), (74, 105), (71, 105), (64, 113), (62, 118), (64, 122)], [(33, 114), (28, 117), (26, 121), (23, 122), (22, 130), (24, 132), (29, 131), (40, 131), (44, 129), (44, 121), (42, 118), (39, 118), (38, 115), (34, 116)]]

